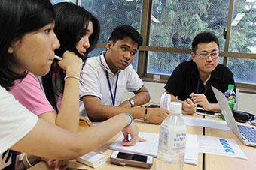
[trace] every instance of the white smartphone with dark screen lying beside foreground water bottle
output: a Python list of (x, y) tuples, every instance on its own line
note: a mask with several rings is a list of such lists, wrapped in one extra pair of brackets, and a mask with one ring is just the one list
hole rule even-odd
[(113, 151), (110, 162), (120, 166), (137, 166), (150, 169), (153, 165), (153, 157), (142, 154), (131, 154), (127, 152)]

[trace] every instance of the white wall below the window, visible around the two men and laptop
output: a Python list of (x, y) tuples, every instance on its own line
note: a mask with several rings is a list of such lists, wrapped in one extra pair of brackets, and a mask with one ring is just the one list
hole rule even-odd
[[(151, 94), (151, 102), (160, 103), (160, 98), (163, 94), (163, 87), (165, 84), (157, 82), (144, 82), (144, 84)], [(130, 97), (133, 97), (133, 93), (126, 92), (123, 99), (127, 100)], [(254, 113), (256, 115), (256, 94), (239, 92), (238, 110)]]

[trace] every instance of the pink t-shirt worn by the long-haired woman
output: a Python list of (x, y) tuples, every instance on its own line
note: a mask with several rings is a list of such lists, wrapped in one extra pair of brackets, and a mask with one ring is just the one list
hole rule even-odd
[(10, 93), (35, 115), (54, 111), (41, 89), (38, 79), (32, 73), (28, 73), (21, 82), (20, 79), (16, 80)]

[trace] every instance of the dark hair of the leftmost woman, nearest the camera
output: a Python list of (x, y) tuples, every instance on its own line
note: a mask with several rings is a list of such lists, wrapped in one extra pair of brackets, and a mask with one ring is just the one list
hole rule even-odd
[(26, 73), (11, 70), (14, 58), (8, 48), (16, 40), (22, 40), (29, 32), (37, 31), (55, 19), (49, 0), (1, 0), (0, 1), (0, 85), (6, 90), (14, 80), (23, 79)]

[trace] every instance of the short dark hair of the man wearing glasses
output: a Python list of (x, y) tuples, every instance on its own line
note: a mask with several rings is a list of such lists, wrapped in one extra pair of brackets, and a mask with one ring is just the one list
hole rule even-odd
[(196, 54), (197, 45), (199, 43), (211, 43), (211, 42), (217, 43), (219, 47), (218, 38), (215, 36), (215, 34), (212, 34), (212, 32), (201, 32), (200, 34), (197, 34), (196, 37), (194, 37), (194, 40), (192, 42), (192, 50)]

